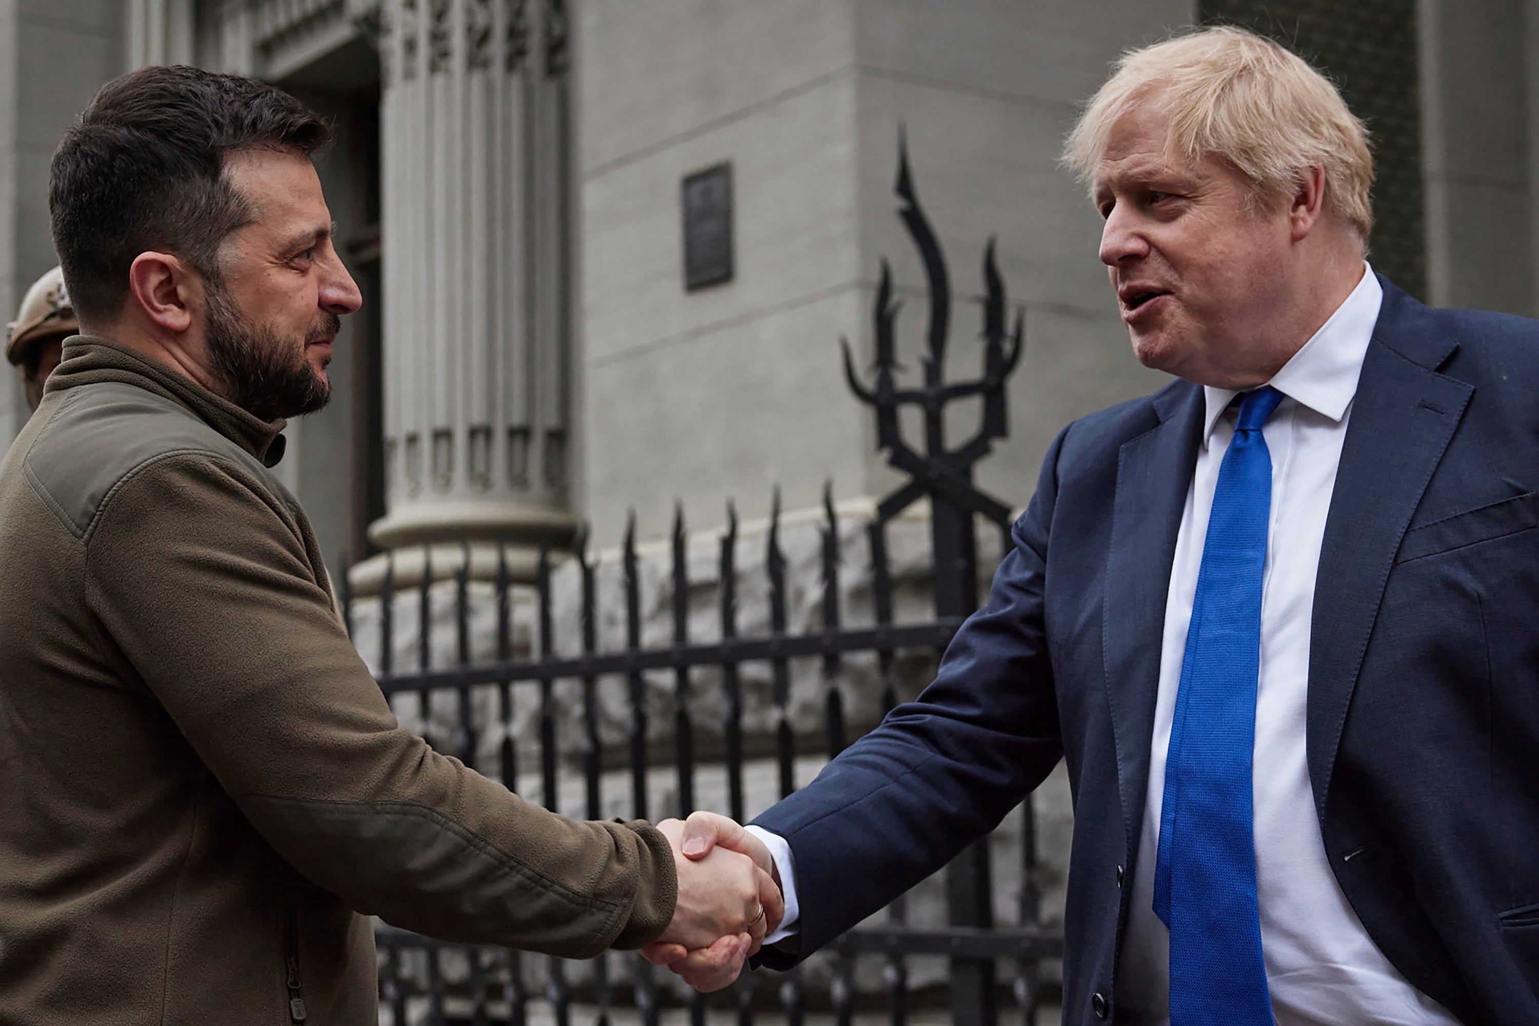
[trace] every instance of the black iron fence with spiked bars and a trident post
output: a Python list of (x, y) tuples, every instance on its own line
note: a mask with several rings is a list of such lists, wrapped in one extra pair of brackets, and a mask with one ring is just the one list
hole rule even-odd
[[(825, 495), (819, 526), (820, 595), (817, 621), (788, 629), (791, 597), (786, 583), (786, 557), (782, 546), (779, 500), (774, 503), (763, 549), (763, 588), (766, 617), (753, 634), (740, 628), (739, 594), (740, 548), (736, 515), (720, 534), (717, 551), (717, 623), (709, 640), (691, 638), (689, 546), (682, 512), (668, 546), (671, 645), (643, 645), (642, 557), (634, 531), (626, 532), (619, 552), (623, 591), (623, 643), (600, 645), (600, 609), (596, 588), (596, 561), (582, 540), (571, 560), (557, 569), (549, 549), (540, 552), (528, 611), (520, 603), (520, 586), (509, 574), (506, 554), (497, 560), (491, 586), (494, 603), (494, 658), (472, 658), (472, 581), (466, 546), (452, 574), (452, 623), (456, 658), (436, 666), (434, 574), (423, 568), (412, 588), (417, 658), (414, 666), (397, 665), (397, 578), (386, 571), (377, 598), (377, 652), (374, 658), (380, 688), (396, 701), (416, 695), (416, 708), (428, 711), (434, 695), (451, 695), (452, 729), (440, 737), (440, 748), (466, 765), (500, 778), (509, 789), (537, 781), (529, 800), (557, 809), (563, 784), (580, 778), (582, 814), (602, 818), (613, 809), (616, 788), (625, 795), (628, 814), (639, 818), (688, 815), (697, 808), (703, 771), (725, 772), (725, 808), (736, 820), (749, 808), (745, 766), (770, 763), (774, 794), (788, 795), (797, 786), (799, 758), (805, 768), (810, 754), (836, 757), (854, 740), (853, 734), (870, 723), (851, 725), (848, 709), (851, 685), (846, 666), (853, 660), (874, 660), (880, 709), (900, 698), (899, 668), (916, 652), (939, 654), (962, 618), (977, 605), (979, 565), (977, 528), (997, 529), (1008, 543), (1008, 508), (973, 485), (973, 466), (993, 441), (1007, 432), (1005, 380), (1020, 357), (1022, 335), (1017, 318), (1014, 332), (1005, 328), (1005, 297), (994, 268), (993, 245), (985, 255), (983, 278), (983, 374), (974, 381), (943, 380), (950, 317), (950, 288), (939, 243), (914, 197), (906, 158), (900, 162), (897, 194), (900, 215), (923, 258), (930, 280), (930, 329), (923, 357), (923, 383), (900, 389), (896, 383), (894, 318), (891, 275), (883, 266), (876, 295), (876, 377), (860, 383), (848, 348), (846, 374), (862, 401), (877, 417), (877, 438), (890, 463), (908, 480), (877, 503), (865, 525), (863, 555), (859, 568), (868, 578), (870, 603), (862, 621), (851, 621), (840, 574), (848, 572), (840, 523), (831, 497)], [(979, 400), (982, 415), (977, 432), (963, 445), (948, 448), (943, 412), (959, 398)], [(900, 431), (899, 411), (919, 409), (925, 425), (923, 446), (910, 446)], [(916, 501), (930, 501), (930, 583), (933, 615), (897, 620), (897, 594), (890, 560), (890, 531), (894, 520)], [(431, 560), (431, 552), (428, 554)], [(553, 575), (577, 591), (576, 638), (557, 645), (557, 615), (553, 609)], [(346, 580), (346, 575), (342, 575)], [(757, 578), (756, 578), (757, 580)], [(442, 589), (442, 586), (440, 586)], [(440, 598), (442, 603), (442, 598)], [(356, 603), (345, 597), (349, 631)], [(519, 621), (526, 617), (525, 621)], [(699, 618), (694, 620), (699, 623)], [(516, 629), (526, 629), (529, 646), (516, 652)], [(816, 665), (822, 692), (819, 729), (805, 728), (806, 717), (793, 714), (793, 666)], [(756, 677), (768, 668), (768, 729), (745, 732), (745, 672)], [(671, 677), (660, 700), (657, 677)], [(605, 717), (600, 686), (623, 681), (625, 743), (605, 743)], [(609, 685), (613, 688), (613, 685)], [(559, 691), (560, 689), (560, 700)], [(700, 701), (703, 689), (719, 694)], [(476, 695), (494, 694), (492, 712)], [(671, 692), (671, 694), (668, 694)], [(573, 698), (576, 697), (576, 703)], [(563, 711), (577, 709), (579, 740), (565, 748), (559, 738)], [(702, 723), (699, 709), (714, 709), (719, 720)], [(520, 731), (516, 720), (534, 711), (537, 728)], [(671, 717), (666, 729), (656, 729), (659, 717)], [(568, 717), (571, 718), (571, 717)], [(496, 755), (480, 741), (500, 738)], [(666, 738), (663, 746), (657, 738)], [(532, 751), (528, 751), (531, 749)], [(617, 755), (619, 749), (619, 755)], [(753, 749), (753, 751), (749, 751)], [(623, 763), (616, 768), (616, 761)], [(671, 771), (673, 789), (663, 803), (656, 791), (659, 769)], [(525, 788), (528, 789), (528, 788)], [(608, 804), (606, 804), (608, 800)], [(405, 1023), (514, 1023), (549, 1021), (568, 1026), (577, 1021), (608, 1024), (640, 1021), (654, 1026), (665, 1011), (688, 1014), (696, 1026), (708, 1018), (733, 1017), (742, 1026), (754, 1021), (786, 1021), (800, 1026), (806, 1015), (831, 1015), (846, 1026), (859, 1012), (883, 1014), (902, 1026), (920, 1014), (950, 1017), (962, 1026), (993, 1026), (1000, 1008), (1013, 1008), (1020, 1021), (1036, 1024), (1043, 998), (1040, 963), (1062, 954), (1062, 938), (1039, 924), (1036, 884), (1036, 820), (1030, 801), (1007, 820), (1019, 831), (1008, 851), (1019, 852), (1019, 864), (991, 864), (990, 843), (980, 841), (946, 869), (943, 923), (934, 917), (911, 915), (906, 898), (894, 901), (885, 914), (850, 931), (830, 946), (816, 966), (786, 974), (745, 974), (731, 989), (717, 995), (683, 994), (669, 974), (654, 969), (634, 954), (611, 952), (591, 963), (565, 963), (557, 958), (520, 952), (446, 944), (405, 934), (388, 926), (379, 929), (380, 998), (394, 1026)], [(859, 872), (859, 868), (851, 868)], [(1008, 903), (996, 898), (996, 877), (1013, 880)], [(1008, 904), (1008, 921), (996, 921), (996, 909)], [(945, 960), (939, 977), (936, 958)], [(930, 960), (930, 986), (916, 989), (913, 966)], [(669, 1017), (674, 1012), (668, 1012)]]

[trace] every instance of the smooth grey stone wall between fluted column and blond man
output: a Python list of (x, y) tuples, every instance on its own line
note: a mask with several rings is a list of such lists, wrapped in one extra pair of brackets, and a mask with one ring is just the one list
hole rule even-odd
[[(1157, 388), (1116, 318), (1096, 260), (1099, 218), (1056, 157), (1074, 105), (1119, 49), (1191, 14), (1190, 2), (963, 0), (942, 11), (862, 0), (816, 14), (800, 3), (585, 5), (583, 512), (600, 543), (617, 538), (617, 512), (633, 505), (648, 535), (666, 528), (659, 517), (674, 497), (696, 506), (774, 481), (800, 505), (828, 477), (840, 495), (891, 486), (866, 411), (839, 381), (834, 343), (848, 335), (870, 357), (886, 257), (906, 305), (902, 358), (917, 374), (925, 292), (891, 191), (900, 125), (950, 257), (954, 374), (980, 363), (973, 298), (990, 235), (1011, 303), (1027, 305), (1034, 328), (1011, 385), (1014, 429), (988, 472), (1002, 498), (1027, 500), (1065, 420)], [(816, 45), (802, 42), (814, 26)], [(723, 158), (737, 191), (737, 277), (688, 294), (679, 180)], [(1065, 325), (1082, 375), (1067, 389), (1037, 355), (1065, 345), (1036, 334)], [(1045, 381), (1074, 401), (1030, 405)], [(973, 417), (957, 414), (957, 437)]]

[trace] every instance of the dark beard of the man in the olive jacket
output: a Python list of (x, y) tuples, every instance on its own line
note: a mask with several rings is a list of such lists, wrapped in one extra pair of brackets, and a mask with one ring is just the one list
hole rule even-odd
[(312, 341), (331, 338), (342, 328), (336, 314), (311, 325), (305, 345), (266, 325), (251, 325), (223, 286), (205, 285), (208, 297), (208, 358), (225, 385), (225, 397), (259, 420), (299, 417), (331, 400), (331, 385), (305, 360)]

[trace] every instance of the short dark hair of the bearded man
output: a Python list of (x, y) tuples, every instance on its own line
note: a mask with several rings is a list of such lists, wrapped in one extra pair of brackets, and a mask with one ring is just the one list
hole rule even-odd
[(78, 317), (117, 315), (139, 254), (174, 252), (219, 283), (219, 245), (255, 220), (223, 177), (235, 152), (312, 157), (331, 128), (289, 94), (200, 68), (142, 68), (102, 86), (54, 151), (54, 249)]

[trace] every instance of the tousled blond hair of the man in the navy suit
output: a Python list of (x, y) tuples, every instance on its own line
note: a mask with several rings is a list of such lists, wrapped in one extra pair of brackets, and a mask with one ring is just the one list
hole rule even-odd
[(1090, 182), (1113, 125), (1148, 100), (1170, 114), (1170, 155), (1188, 165), (1210, 155), (1230, 162), (1259, 202), (1293, 195), (1299, 172), (1322, 166), (1327, 209), (1367, 242), (1368, 132), (1336, 86), (1297, 54), (1231, 26), (1128, 51), (1070, 132), (1063, 165)]

